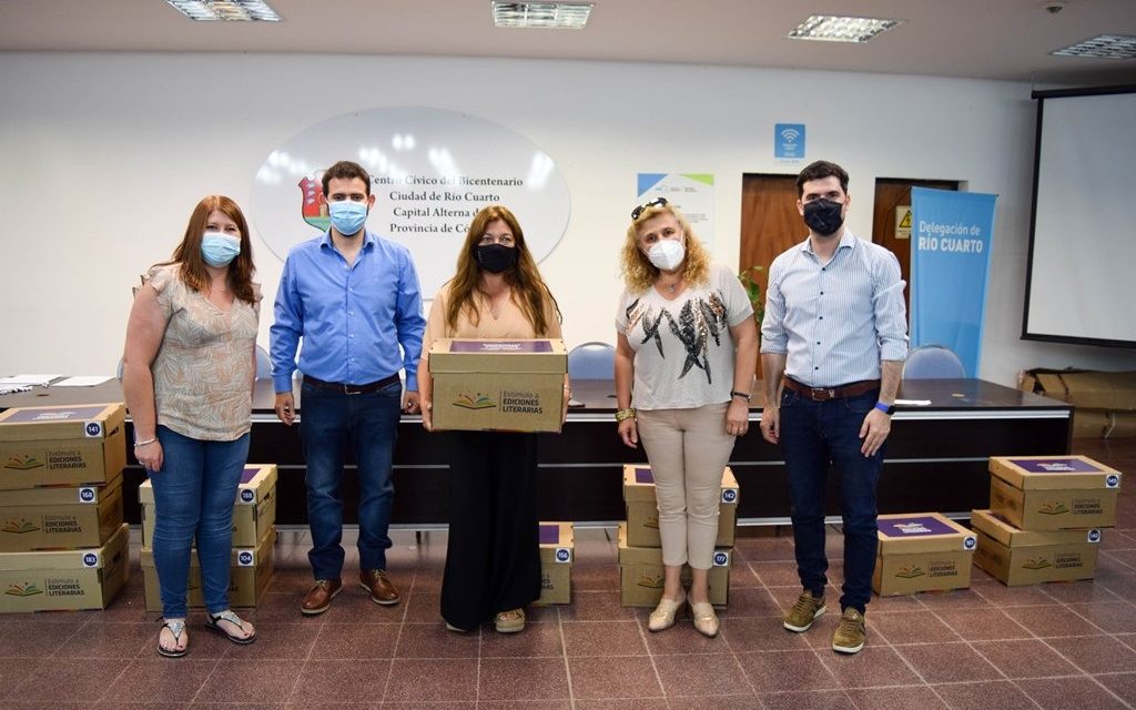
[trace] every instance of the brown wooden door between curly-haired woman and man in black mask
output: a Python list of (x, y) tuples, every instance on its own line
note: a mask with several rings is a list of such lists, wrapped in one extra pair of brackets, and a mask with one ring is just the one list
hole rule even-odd
[[(752, 272), (753, 282), (761, 293), (755, 309), (765, 308), (769, 265), (777, 254), (800, 243), (809, 234), (796, 211), (796, 175), (742, 176), (742, 241), (737, 259), (738, 272)], [(759, 321), (758, 327), (761, 327)], [(758, 377), (761, 377), (761, 358), (758, 358)]]

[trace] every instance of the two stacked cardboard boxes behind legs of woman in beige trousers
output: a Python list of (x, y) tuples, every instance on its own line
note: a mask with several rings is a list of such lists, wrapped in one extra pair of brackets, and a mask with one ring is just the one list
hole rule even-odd
[[(726, 467), (721, 473), (718, 537), (709, 573), (710, 603), (721, 607), (729, 598), (729, 568), (734, 561), (737, 528), (737, 479)], [(624, 467), (624, 503), (627, 521), (619, 524), (619, 592), (625, 607), (655, 607), (662, 598), (663, 565), (659, 538), (659, 508), (651, 468)], [(683, 571), (688, 580), (690, 568)]]

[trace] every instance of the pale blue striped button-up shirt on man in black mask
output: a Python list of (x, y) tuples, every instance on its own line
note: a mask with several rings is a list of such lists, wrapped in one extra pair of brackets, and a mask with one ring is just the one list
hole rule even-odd
[(785, 354), (785, 374), (810, 387), (878, 379), (904, 360), (908, 318), (895, 254), (845, 229), (828, 264), (805, 239), (769, 268), (761, 352)]

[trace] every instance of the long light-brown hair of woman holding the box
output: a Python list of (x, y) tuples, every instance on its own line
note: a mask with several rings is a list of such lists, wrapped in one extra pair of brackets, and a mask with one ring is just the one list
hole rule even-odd
[(560, 307), (552, 298), (541, 273), (536, 269), (536, 260), (525, 244), (525, 234), (520, 229), (517, 217), (503, 204), (490, 204), (483, 208), (474, 220), (469, 223), (469, 231), (466, 233), (466, 242), (458, 253), (458, 272), (450, 279), (450, 302), (445, 309), (445, 323), (450, 332), (458, 329), (458, 316), (466, 311), (469, 321), (477, 325), (479, 316), (477, 312), (477, 287), (482, 279), (482, 269), (477, 265), (477, 245), (485, 234), (485, 228), (494, 220), (502, 220), (509, 225), (512, 237), (516, 241), (517, 261), (502, 274), (504, 282), (512, 289), (513, 298), (520, 306), (525, 318), (533, 325), (533, 331), (537, 337), (544, 337), (549, 333), (549, 323), (544, 314), (549, 310), (556, 312), (557, 320), (560, 320)]

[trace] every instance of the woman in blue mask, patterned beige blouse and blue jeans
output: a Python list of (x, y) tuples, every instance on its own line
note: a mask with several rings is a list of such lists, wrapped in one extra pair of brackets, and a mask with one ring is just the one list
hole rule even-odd
[(158, 653), (185, 655), (194, 538), (206, 626), (234, 643), (256, 632), (228, 607), (233, 501), (249, 453), (260, 286), (241, 208), (210, 195), (169, 261), (150, 269), (126, 326), (123, 390), (134, 456), (153, 484)]

